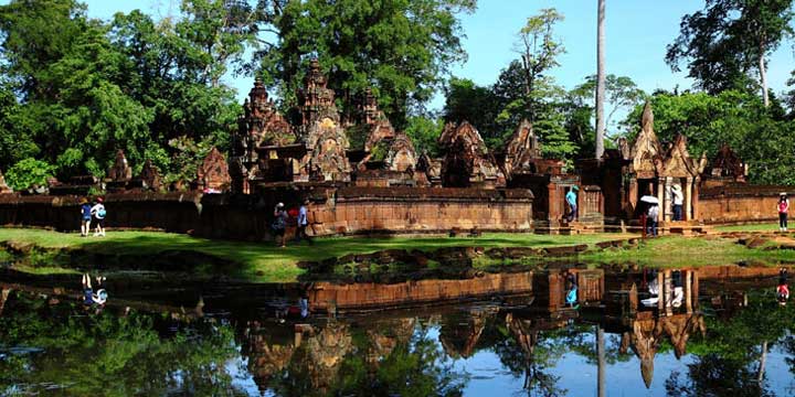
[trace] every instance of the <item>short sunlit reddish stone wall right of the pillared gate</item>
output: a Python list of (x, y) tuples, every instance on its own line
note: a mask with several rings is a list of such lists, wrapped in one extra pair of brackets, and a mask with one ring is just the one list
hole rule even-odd
[(698, 201), (698, 218), (708, 224), (776, 222), (778, 193), (786, 189), (738, 185), (703, 190)]

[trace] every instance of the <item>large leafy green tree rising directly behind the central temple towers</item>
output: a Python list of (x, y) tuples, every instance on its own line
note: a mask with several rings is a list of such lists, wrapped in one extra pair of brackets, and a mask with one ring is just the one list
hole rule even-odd
[(278, 41), (256, 52), (259, 74), (289, 107), (317, 57), (338, 98), (372, 87), (402, 128), (466, 57), (457, 14), (474, 9), (474, 0), (277, 1), (268, 19)]

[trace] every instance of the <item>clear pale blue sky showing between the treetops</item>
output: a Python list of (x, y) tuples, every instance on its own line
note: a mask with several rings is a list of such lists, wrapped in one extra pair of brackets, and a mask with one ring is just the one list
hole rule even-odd
[[(157, 18), (179, 11), (177, 0), (84, 0), (88, 15), (108, 20), (114, 13), (140, 9)], [(8, 3), (8, 0), (0, 0)], [(702, 0), (606, 0), (606, 72), (630, 77), (642, 89), (651, 93), (657, 88), (680, 90), (692, 84), (687, 72), (674, 73), (666, 65), (666, 46), (679, 34), (679, 22), (686, 13), (703, 8)], [(462, 15), (466, 37), (463, 40), (468, 60), (454, 65), (457, 77), (470, 78), (479, 85), (495, 83), (500, 71), (518, 55), (513, 52), (516, 33), (540, 9), (556, 8), (565, 20), (556, 34), (563, 42), (565, 54), (559, 57), (561, 66), (551, 74), (559, 84), (573, 88), (584, 77), (596, 73), (596, 1), (595, 0), (480, 0), (477, 10)], [(793, 42), (784, 43), (771, 57), (768, 86), (776, 93), (786, 88), (786, 81), (795, 58)], [(225, 83), (237, 89), (242, 100), (253, 78), (226, 76)], [(437, 95), (432, 109), (444, 106)]]

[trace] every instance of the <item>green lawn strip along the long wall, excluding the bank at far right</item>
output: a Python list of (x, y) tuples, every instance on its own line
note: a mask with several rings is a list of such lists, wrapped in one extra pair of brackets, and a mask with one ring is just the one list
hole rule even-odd
[[(536, 234), (484, 234), (481, 237), (396, 236), (396, 237), (327, 237), (315, 245), (275, 247), (274, 243), (251, 243), (195, 238), (188, 235), (157, 232), (110, 232), (106, 237), (80, 237), (41, 229), (0, 228), (0, 242), (32, 243), (44, 248), (82, 248), (112, 255), (157, 255), (166, 250), (192, 250), (240, 264), (231, 277), (256, 281), (294, 281), (303, 272), (296, 267), (301, 260), (320, 260), (348, 254), (367, 254), (383, 249), (434, 250), (443, 247), (478, 246), (550, 247), (594, 244), (625, 238), (629, 235), (596, 234), (548, 236)], [(41, 269), (39, 269), (41, 272)]]

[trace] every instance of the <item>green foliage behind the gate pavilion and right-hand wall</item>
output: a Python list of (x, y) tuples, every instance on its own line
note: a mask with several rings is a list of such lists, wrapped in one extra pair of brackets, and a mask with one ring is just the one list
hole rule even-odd
[[(714, 157), (728, 143), (749, 164), (751, 182), (759, 184), (793, 184), (795, 125), (774, 117), (775, 101), (766, 109), (752, 94), (727, 90), (718, 95), (657, 93), (651, 98), (655, 132), (661, 141), (672, 141), (681, 132), (688, 138), (690, 155), (706, 152)], [(640, 128), (642, 106), (632, 111), (624, 124), (630, 136)]]

